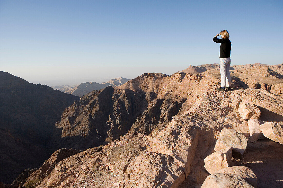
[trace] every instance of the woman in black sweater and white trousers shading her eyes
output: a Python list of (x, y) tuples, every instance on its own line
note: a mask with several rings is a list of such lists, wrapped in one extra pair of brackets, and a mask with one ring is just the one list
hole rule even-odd
[[(217, 38), (221, 35), (221, 39)], [(231, 53), (231, 41), (229, 40), (229, 33), (227, 30), (220, 31), (220, 34), (215, 35), (212, 39), (220, 45), (220, 75), (221, 75), (221, 87), (216, 88), (218, 91), (231, 90), (230, 88), (230, 53)]]

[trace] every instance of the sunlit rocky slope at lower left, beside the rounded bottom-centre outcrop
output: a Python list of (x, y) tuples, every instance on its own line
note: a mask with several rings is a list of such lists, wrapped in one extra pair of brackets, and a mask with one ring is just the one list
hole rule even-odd
[(113, 187), (123, 178), (130, 161), (145, 152), (141, 147), (148, 143), (145, 135), (135, 133), (112, 141), (103, 149), (84, 150), (57, 163), (38, 188), (82, 187), (85, 181), (89, 187)]

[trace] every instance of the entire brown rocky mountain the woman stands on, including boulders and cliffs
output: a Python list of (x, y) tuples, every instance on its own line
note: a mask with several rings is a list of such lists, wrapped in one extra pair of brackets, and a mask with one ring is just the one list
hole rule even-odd
[(231, 67), (226, 92), (215, 90), (217, 66), (202, 67), (200, 74), (146, 73), (83, 96), (65, 109), (52, 140), (83, 152), (37, 182), (32, 172), (25, 185), (282, 187), (282, 65)]

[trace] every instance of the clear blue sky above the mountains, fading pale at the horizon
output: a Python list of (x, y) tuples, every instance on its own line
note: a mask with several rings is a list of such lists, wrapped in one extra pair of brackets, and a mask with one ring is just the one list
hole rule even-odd
[(283, 63), (283, 1), (0, 0), (0, 70), (46, 85), (172, 74), (219, 62)]

